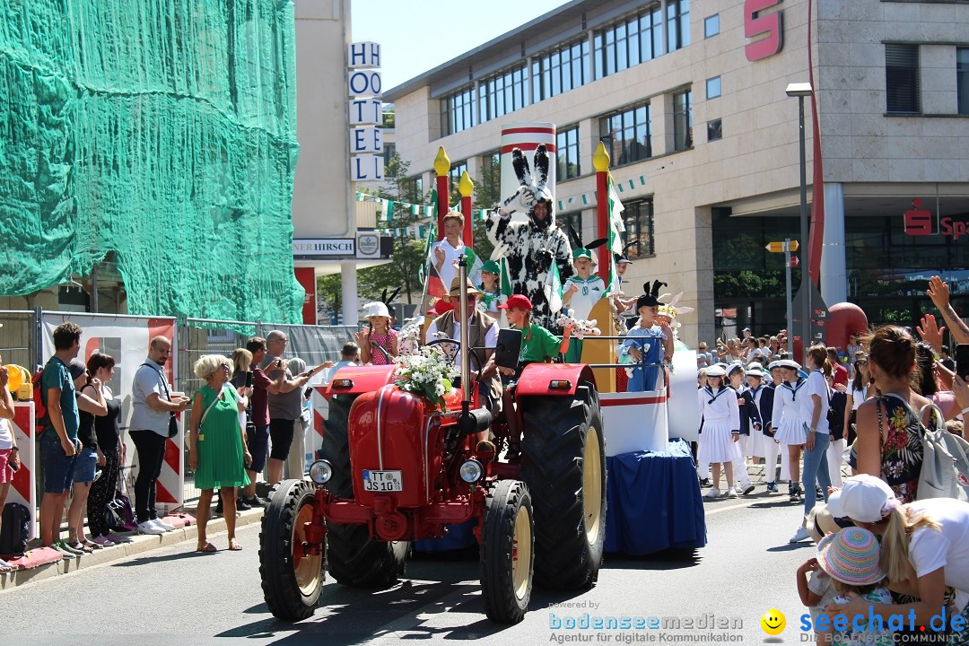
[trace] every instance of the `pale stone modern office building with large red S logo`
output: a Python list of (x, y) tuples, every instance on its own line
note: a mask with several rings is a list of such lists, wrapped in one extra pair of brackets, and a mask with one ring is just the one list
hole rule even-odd
[[(966, 3), (574, 0), (384, 101), (395, 106), (396, 150), (424, 187), (440, 145), (478, 180), (503, 126), (556, 124), (557, 217), (586, 239), (604, 141), (625, 235), (640, 241), (632, 283), (685, 292), (696, 309), (680, 336), (695, 345), (748, 324), (786, 326), (784, 257), (765, 245), (800, 237), (790, 83), (814, 88), (804, 101), (819, 233), (810, 261), (826, 302), (909, 324), (931, 306), (932, 273), (969, 293)], [(956, 296), (960, 306), (969, 312), (969, 298)]]

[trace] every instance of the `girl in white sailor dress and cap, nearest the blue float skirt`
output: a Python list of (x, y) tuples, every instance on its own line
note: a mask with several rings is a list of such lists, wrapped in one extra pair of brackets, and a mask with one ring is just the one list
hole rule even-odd
[(713, 366), (706, 372), (706, 385), (697, 393), (703, 411), (699, 462), (713, 467), (713, 486), (703, 495), (706, 498), (720, 495), (720, 469), (723, 467), (727, 475), (724, 495), (735, 498), (734, 460), (740, 458), (737, 445), (740, 439), (740, 410), (736, 404), (736, 391), (724, 385), (723, 368)]

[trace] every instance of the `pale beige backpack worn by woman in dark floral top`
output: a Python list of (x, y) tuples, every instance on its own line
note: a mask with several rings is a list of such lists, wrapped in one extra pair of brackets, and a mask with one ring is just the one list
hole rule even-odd
[[(946, 429), (946, 417), (938, 406), (928, 406), (932, 407), (932, 415), (938, 415), (941, 424), (937, 431), (930, 431), (922, 426), (919, 500), (955, 498), (969, 501), (969, 442)], [(925, 408), (919, 412), (920, 423)]]

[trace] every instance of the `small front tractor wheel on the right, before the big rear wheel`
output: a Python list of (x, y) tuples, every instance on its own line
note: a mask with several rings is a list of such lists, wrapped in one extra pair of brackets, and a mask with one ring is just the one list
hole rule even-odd
[(532, 499), (518, 480), (500, 480), (487, 497), (481, 569), (485, 614), (517, 624), (532, 597), (535, 534)]

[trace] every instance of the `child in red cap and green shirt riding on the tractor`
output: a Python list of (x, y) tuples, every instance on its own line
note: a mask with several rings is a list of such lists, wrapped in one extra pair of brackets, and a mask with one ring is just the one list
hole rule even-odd
[(529, 363), (545, 362), (553, 356), (567, 353), (569, 351), (569, 337), (572, 336), (574, 324), (566, 325), (563, 336), (559, 339), (542, 325), (531, 322), (532, 301), (529, 300), (528, 296), (520, 293), (510, 296), (507, 302), (498, 306), (498, 309), (508, 310), (508, 323), (513, 329), (521, 330), (521, 349), (518, 351), (517, 369), (498, 368), (502, 375), (512, 379), (502, 395), (510, 437), (516, 438), (509, 442), (508, 457), (511, 459), (517, 457), (519, 453), (518, 444), (521, 438), (521, 430), (518, 428), (515, 410), (515, 386), (518, 377), (521, 375), (521, 369)]

